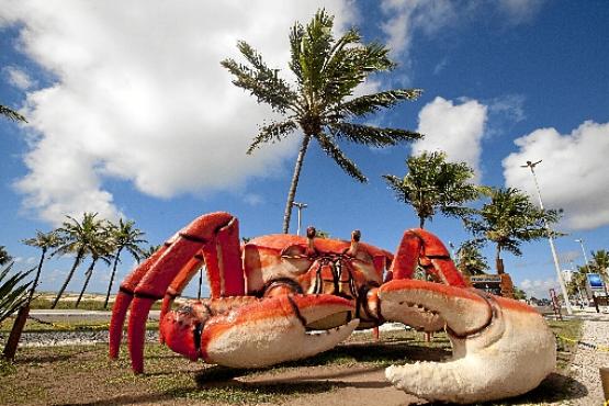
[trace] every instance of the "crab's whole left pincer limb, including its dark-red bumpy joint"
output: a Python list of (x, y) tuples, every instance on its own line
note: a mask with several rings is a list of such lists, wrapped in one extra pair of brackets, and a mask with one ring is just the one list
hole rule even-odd
[(191, 360), (233, 368), (260, 368), (314, 356), (335, 347), (358, 319), (324, 331), (307, 326), (353, 305), (332, 295), (221, 297), (194, 302), (161, 320), (166, 345)]

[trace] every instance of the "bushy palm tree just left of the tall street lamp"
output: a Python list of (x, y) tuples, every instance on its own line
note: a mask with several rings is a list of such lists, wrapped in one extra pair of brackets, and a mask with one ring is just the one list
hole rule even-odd
[(560, 219), (561, 211), (541, 210), (527, 194), (514, 188), (487, 188), (485, 194), (490, 201), (464, 223), (481, 240), (495, 243), (497, 273), (504, 273), (501, 251), (520, 256), (521, 243), (557, 235), (549, 226)]

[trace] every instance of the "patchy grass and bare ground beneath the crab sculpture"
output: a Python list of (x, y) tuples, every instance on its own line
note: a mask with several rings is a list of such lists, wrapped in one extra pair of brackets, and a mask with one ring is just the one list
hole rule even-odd
[[(550, 324), (559, 335), (579, 337), (580, 322)], [(557, 373), (509, 404), (568, 398), (572, 386), (577, 384), (568, 377), (575, 345), (566, 340), (557, 343)], [(343, 393), (340, 391), (351, 385), (345, 376), (353, 371), (374, 372), (379, 380), (374, 385), (382, 391), (387, 385), (376, 371), (392, 363), (444, 360), (450, 357), (450, 345), (443, 334), (427, 343), (411, 330), (383, 332), (380, 342), (362, 332), (311, 359), (270, 369), (232, 370), (189, 362), (158, 343), (148, 343), (143, 375), (132, 374), (125, 353), (116, 362), (108, 360), (106, 353), (106, 345), (21, 349), (13, 365), (4, 363), (0, 368), (0, 404), (291, 404), (319, 394)]]

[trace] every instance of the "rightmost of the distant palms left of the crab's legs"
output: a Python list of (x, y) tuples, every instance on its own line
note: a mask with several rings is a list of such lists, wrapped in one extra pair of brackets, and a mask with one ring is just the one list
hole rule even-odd
[(123, 218), (120, 218), (119, 225), (111, 225), (110, 236), (114, 246), (114, 259), (112, 264), (112, 274), (110, 275), (110, 283), (108, 284), (108, 293), (105, 294), (105, 301), (103, 302), (103, 308), (108, 307), (110, 293), (112, 292), (112, 283), (114, 282), (114, 277), (116, 275), (116, 266), (121, 261), (121, 252), (123, 249), (126, 249), (127, 252), (131, 253), (132, 257), (138, 262), (146, 257), (146, 252), (139, 247), (140, 244), (148, 243), (142, 238), (144, 234), (144, 232), (135, 228), (135, 222), (131, 219), (123, 222)]

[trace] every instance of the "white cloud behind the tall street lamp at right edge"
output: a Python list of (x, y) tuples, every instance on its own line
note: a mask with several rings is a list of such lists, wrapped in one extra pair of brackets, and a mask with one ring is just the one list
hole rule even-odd
[(537, 202), (531, 172), (521, 165), (542, 159), (535, 173), (548, 208), (564, 208), (572, 229), (609, 224), (609, 123), (586, 121), (566, 135), (540, 128), (515, 144), (519, 150), (503, 161), (507, 187), (525, 190)]

